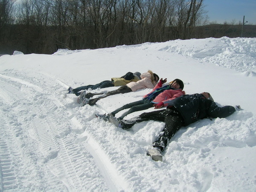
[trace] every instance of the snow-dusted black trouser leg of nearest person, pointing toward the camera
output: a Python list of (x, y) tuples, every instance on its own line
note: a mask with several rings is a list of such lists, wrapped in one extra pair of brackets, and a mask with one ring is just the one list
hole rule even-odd
[(163, 134), (160, 134), (157, 141), (155, 141), (153, 144), (153, 147), (160, 148), (161, 151), (164, 150), (168, 141), (181, 128), (183, 125), (183, 118), (179, 113), (173, 111), (166, 116), (165, 123), (165, 128), (162, 131)]

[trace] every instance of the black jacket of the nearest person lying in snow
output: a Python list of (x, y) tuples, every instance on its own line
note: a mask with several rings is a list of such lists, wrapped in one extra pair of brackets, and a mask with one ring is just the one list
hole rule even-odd
[(206, 117), (225, 118), (236, 111), (232, 106), (218, 107), (215, 102), (198, 93), (172, 100), (167, 108), (172, 107), (181, 114), (185, 126)]

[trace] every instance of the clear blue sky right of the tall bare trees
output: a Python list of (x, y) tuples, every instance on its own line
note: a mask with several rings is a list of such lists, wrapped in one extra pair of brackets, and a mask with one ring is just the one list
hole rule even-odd
[(204, 0), (204, 5), (210, 22), (238, 23), (245, 16), (248, 24), (256, 25), (256, 0)]

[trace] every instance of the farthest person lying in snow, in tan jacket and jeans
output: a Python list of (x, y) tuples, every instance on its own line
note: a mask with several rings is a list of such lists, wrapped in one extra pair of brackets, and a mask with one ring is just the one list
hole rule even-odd
[(81, 94), (82, 90), (88, 90), (89, 88), (94, 90), (94, 89), (97, 89), (97, 88), (107, 88), (107, 87), (121, 86), (121, 85), (128, 84), (131, 81), (137, 82), (141, 79), (140, 75), (141, 75), (140, 72), (135, 72), (135, 73), (128, 72), (120, 78), (115, 78), (115, 77), (111, 78), (111, 81), (106, 80), (106, 81), (102, 81), (98, 84), (85, 85), (85, 86), (77, 87), (75, 89), (73, 89), (72, 87), (69, 87), (67, 89), (67, 91), (68, 91), (68, 94), (74, 93), (74, 94), (76, 94), (76, 96), (79, 96)]

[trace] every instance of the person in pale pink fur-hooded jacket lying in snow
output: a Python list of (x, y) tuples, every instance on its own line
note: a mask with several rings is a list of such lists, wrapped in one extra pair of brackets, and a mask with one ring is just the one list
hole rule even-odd
[(81, 93), (78, 102), (81, 102), (83, 100), (82, 106), (89, 104), (89, 105), (95, 105), (97, 101), (100, 99), (103, 99), (105, 97), (116, 95), (119, 93), (129, 93), (132, 91), (137, 91), (139, 89), (145, 89), (145, 88), (151, 88), (153, 89), (154, 86), (159, 81), (159, 76), (155, 73), (153, 73), (151, 70), (148, 70), (147, 73), (143, 73), (140, 75), (141, 80), (137, 82), (130, 82), (126, 85), (123, 85), (119, 87), (117, 90), (109, 91), (105, 96), (101, 96), (95, 99), (90, 99), (90, 97), (93, 97), (95, 95), (102, 95), (103, 93), (86, 93), (85, 91)]

